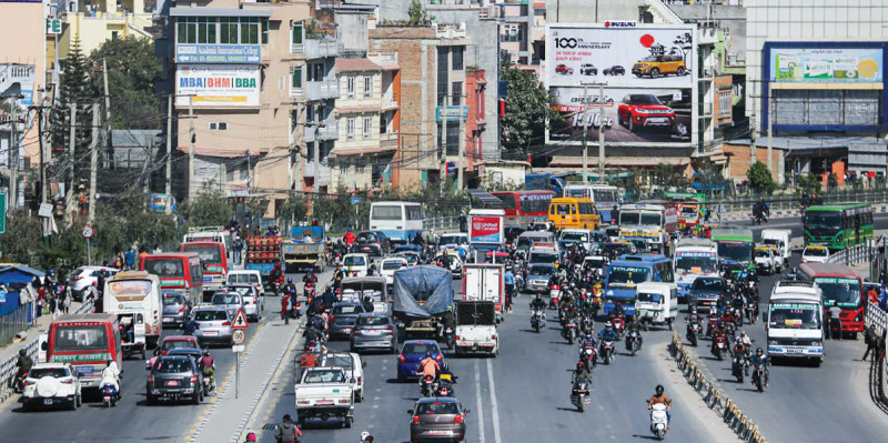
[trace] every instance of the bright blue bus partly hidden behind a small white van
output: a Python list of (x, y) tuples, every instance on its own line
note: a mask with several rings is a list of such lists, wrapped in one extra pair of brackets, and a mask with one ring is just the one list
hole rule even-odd
[(635, 315), (635, 286), (638, 283), (675, 283), (673, 261), (663, 254), (623, 255), (607, 266), (604, 283), (604, 313), (622, 303), (626, 315)]

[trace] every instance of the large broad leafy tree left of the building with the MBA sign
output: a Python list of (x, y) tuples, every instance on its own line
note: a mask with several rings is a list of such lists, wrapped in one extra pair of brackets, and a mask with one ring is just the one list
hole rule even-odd
[[(111, 128), (159, 129), (160, 102), (154, 95), (154, 81), (161, 74), (161, 59), (154, 56), (151, 39), (127, 37), (105, 40), (92, 51), (90, 62), (108, 66), (108, 92), (111, 95)], [(94, 88), (104, 93), (101, 75)]]

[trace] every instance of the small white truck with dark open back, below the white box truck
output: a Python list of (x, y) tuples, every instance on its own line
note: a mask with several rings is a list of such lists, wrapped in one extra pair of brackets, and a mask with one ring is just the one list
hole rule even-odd
[(491, 300), (462, 300), (454, 302), (456, 355), (484, 352), (500, 355), (496, 334), (496, 306)]

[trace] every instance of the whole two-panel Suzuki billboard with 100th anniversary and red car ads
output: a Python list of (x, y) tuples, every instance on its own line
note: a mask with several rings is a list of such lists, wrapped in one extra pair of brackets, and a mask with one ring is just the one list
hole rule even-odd
[(562, 115), (548, 140), (579, 143), (585, 123), (593, 140), (603, 125), (607, 144), (694, 143), (694, 28), (609, 23), (546, 27), (545, 80)]

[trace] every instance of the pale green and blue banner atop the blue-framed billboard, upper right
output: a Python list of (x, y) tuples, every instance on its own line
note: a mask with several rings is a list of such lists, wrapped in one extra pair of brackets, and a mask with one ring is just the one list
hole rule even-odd
[(770, 81), (881, 83), (882, 48), (770, 48)]

